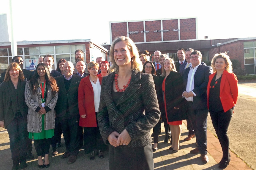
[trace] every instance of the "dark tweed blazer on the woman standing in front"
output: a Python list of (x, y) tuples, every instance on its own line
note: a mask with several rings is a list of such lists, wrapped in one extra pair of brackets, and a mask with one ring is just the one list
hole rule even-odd
[(99, 112), (100, 134), (105, 144), (110, 133), (127, 130), (129, 145), (117, 147), (141, 147), (151, 143), (150, 130), (160, 119), (154, 80), (151, 74), (132, 71), (131, 81), (115, 105), (112, 98), (115, 73), (102, 78)]

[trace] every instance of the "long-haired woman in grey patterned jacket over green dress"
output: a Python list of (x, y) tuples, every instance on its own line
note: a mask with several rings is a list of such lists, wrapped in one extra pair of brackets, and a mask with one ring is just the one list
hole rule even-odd
[[(58, 91), (56, 80), (50, 75), (48, 67), (44, 63), (39, 63), (25, 87), (25, 101), (29, 107), (29, 138), (34, 138), (39, 168), (50, 166), (49, 148), (51, 138), (54, 136), (54, 108)], [(44, 162), (41, 155), (45, 155)]]

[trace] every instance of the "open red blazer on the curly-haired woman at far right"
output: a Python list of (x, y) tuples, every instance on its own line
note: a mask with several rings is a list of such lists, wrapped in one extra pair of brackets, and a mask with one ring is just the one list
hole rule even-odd
[[(210, 90), (210, 83), (213, 79), (214, 75), (213, 73), (209, 76), (209, 82), (207, 86), (207, 104), (209, 109), (209, 90)], [(224, 112), (231, 109), (233, 106), (236, 105), (237, 98), (238, 98), (238, 86), (237, 86), (237, 78), (234, 73), (229, 73), (226, 70), (224, 70), (222, 74), (222, 78), (220, 81), (220, 92), (219, 92), (219, 98), (222, 104), (222, 107), (224, 109)]]

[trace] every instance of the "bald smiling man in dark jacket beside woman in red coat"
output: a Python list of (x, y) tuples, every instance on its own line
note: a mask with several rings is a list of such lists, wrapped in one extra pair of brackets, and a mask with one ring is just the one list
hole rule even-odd
[(82, 77), (73, 74), (74, 66), (70, 61), (64, 64), (64, 74), (55, 77), (59, 87), (55, 109), (61, 124), (67, 151), (61, 158), (67, 158), (68, 164), (76, 161), (82, 144), (83, 129), (79, 126), (78, 86)]

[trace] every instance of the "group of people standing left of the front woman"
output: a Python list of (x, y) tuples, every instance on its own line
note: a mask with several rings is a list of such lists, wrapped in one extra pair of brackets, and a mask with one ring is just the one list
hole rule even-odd
[[(21, 56), (15, 56), (7, 71), (1, 74), (0, 126), (6, 128), (9, 134), (12, 169), (19, 169), (19, 163), (21, 169), (26, 169), (26, 157), (28, 158), (28, 153), (32, 154), (32, 146), (31, 149), (29, 147), (32, 139), (34, 139), (39, 168), (48, 168), (50, 145), (52, 145), (52, 155), (57, 155), (56, 147), (61, 146), (62, 133), (67, 149), (62, 158), (70, 156), (69, 164), (76, 161), (79, 149), (83, 145), (86, 153), (91, 152), (91, 160), (94, 159), (96, 149), (99, 158), (104, 158), (102, 153), (104, 143), (97, 127), (96, 113), (99, 108), (101, 76), (106, 76), (109, 63), (102, 62), (102, 57), (97, 59), (99, 63), (102, 62), (100, 76), (98, 63), (92, 61), (86, 68), (83, 51), (79, 49), (75, 51), (76, 53), (82, 54), (76, 57), (76, 64), (60, 59), (56, 70), (52, 69), (53, 56), (39, 57), (33, 72), (21, 69), (23, 59)], [(76, 73), (74, 65), (77, 69)], [(83, 81), (80, 85), (83, 77), (86, 77), (83, 79), (86, 83), (89, 80), (89, 83), (96, 84), (95, 88), (89, 84), (84, 87)], [(92, 95), (84, 95), (86, 100), (80, 100), (86, 104), (89, 100), (89, 105), (85, 106), (78, 102), (78, 98), (83, 97), (81, 95), (78, 97), (79, 86), (79, 94), (82, 94), (82, 91), (86, 93), (92, 91)], [(95, 108), (92, 107), (94, 103)], [(83, 117), (86, 115), (87, 119)], [(92, 123), (94, 120), (95, 124)], [(82, 127), (84, 127), (84, 143)], [(98, 132), (97, 138), (91, 129)]]

